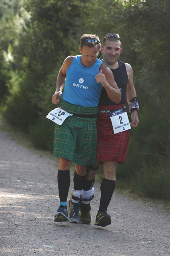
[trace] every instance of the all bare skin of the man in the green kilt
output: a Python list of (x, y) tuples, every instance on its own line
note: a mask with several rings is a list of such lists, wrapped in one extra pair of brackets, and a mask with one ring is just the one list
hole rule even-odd
[[(82, 54), (81, 63), (83, 66), (90, 67), (96, 62), (98, 52), (99, 52), (97, 46), (94, 46), (92, 48), (88, 46), (83, 46), (82, 49), (79, 47), (79, 50), (80, 50), (80, 53)], [(74, 59), (74, 56), (68, 56), (63, 62), (63, 65), (57, 76), (57, 88), (56, 88), (55, 94), (53, 94), (53, 97), (52, 97), (53, 104), (57, 104), (59, 102), (59, 98), (62, 95), (62, 89), (64, 87), (64, 81), (66, 79), (66, 70), (71, 65), (73, 59)], [(104, 64), (102, 64), (100, 66), (100, 72), (95, 76), (95, 78), (98, 83), (101, 83), (102, 86), (105, 87), (107, 94), (111, 100), (117, 103), (121, 101), (121, 92), (119, 91), (119, 88), (115, 83), (113, 73), (109, 68), (107, 68)], [(70, 165), (71, 165), (71, 161), (64, 158), (59, 158), (60, 170), (63, 170), (63, 171), (69, 170)], [(76, 168), (76, 173), (78, 175), (84, 176), (87, 174), (87, 166), (75, 164), (75, 168)]]

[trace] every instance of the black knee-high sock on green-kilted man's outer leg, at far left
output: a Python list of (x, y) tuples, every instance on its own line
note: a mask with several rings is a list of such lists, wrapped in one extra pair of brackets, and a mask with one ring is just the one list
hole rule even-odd
[(68, 196), (68, 190), (70, 188), (70, 170), (66, 170), (66, 171), (58, 170), (57, 179), (58, 179), (60, 201), (66, 202), (67, 196)]

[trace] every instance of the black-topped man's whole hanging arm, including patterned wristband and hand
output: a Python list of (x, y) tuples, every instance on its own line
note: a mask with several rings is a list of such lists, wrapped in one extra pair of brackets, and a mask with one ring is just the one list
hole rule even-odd
[(129, 104), (129, 112), (131, 112), (131, 127), (137, 127), (139, 123), (138, 111), (139, 104), (137, 102), (137, 94), (133, 84), (133, 69), (130, 64), (125, 63), (129, 82), (127, 84), (127, 102)]

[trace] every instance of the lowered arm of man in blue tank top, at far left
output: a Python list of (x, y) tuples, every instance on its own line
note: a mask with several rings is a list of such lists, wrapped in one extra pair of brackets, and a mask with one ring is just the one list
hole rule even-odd
[(61, 69), (57, 76), (57, 87), (56, 87), (55, 93), (53, 94), (53, 97), (52, 97), (53, 104), (57, 104), (59, 102), (59, 100), (57, 98), (62, 96), (62, 90), (64, 88), (64, 82), (66, 79), (66, 70), (71, 65), (73, 58), (74, 58), (74, 56), (68, 56), (64, 60), (63, 65), (61, 66)]

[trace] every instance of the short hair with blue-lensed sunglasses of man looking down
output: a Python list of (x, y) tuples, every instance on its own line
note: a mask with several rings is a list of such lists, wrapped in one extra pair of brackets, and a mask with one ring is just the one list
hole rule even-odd
[(100, 49), (101, 43), (100, 39), (96, 35), (91, 35), (91, 34), (84, 34), (80, 38), (80, 48), (82, 50), (83, 46), (88, 46), (90, 48), (97, 46), (98, 49)]

